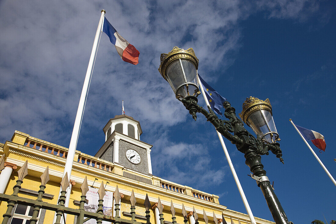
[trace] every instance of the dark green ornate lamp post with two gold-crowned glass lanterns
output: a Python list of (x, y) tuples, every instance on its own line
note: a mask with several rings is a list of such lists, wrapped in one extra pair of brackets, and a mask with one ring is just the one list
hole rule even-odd
[(268, 155), (268, 151), (274, 153), (283, 163), (282, 151), (277, 142), (280, 139), (272, 117), (272, 107), (269, 100), (262, 101), (249, 97), (243, 104), (240, 116), (257, 134), (257, 138), (255, 138), (244, 128), (242, 120), (237, 117), (235, 108), (231, 107), (229, 102), (223, 103), (224, 116), (228, 120), (219, 119), (210, 107), (208, 107), (208, 112), (197, 104), (197, 96), (200, 94), (197, 81), (198, 62), (192, 48), (184, 50), (174, 47), (168, 54), (161, 54), (159, 72), (169, 82), (176, 98), (183, 103), (195, 120), (196, 113), (202, 113), (222, 136), (244, 153), (245, 163), (250, 167), (252, 178), (257, 181), (264, 194), (274, 221), (277, 224), (289, 224), (261, 163), (260, 155)]

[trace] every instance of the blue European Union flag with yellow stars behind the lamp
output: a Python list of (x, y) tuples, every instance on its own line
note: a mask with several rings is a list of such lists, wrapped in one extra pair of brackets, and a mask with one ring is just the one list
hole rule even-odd
[(216, 92), (216, 90), (211, 88), (211, 86), (208, 83), (206, 83), (201, 78), (200, 75), (198, 75), (198, 77), (200, 78), (201, 81), (200, 85), (202, 85), (201, 87), (203, 87), (204, 89), (205, 95), (207, 96), (211, 109), (220, 116), (223, 116), (222, 112), (220, 112), (220, 109), (223, 107), (223, 103), (226, 101), (226, 99), (220, 96), (219, 93)]

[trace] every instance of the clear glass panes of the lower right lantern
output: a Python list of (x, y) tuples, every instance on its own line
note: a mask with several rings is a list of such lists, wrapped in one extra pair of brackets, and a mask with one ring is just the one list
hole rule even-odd
[(247, 118), (247, 124), (267, 142), (275, 142), (279, 137), (272, 114), (268, 110), (253, 111)]

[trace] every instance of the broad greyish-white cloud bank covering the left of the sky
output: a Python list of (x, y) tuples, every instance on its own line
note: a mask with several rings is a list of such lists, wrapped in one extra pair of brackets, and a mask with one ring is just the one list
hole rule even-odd
[[(82, 133), (99, 130), (108, 118), (126, 113), (154, 139), (167, 179), (219, 184), (225, 167), (206, 169), (207, 146), (169, 140), (163, 133), (189, 114), (158, 72), (160, 54), (193, 47), (199, 72), (227, 68), (241, 47), (239, 22), (266, 11), (268, 17), (303, 20), (314, 1), (20, 1), (0, 3), (0, 140), (15, 129), (68, 146), (100, 9), (140, 51), (136, 66), (123, 62), (102, 34), (84, 113)], [(207, 77), (215, 79), (214, 77)], [(183, 112), (182, 112), (183, 111)], [(195, 157), (197, 159), (195, 159)], [(206, 170), (207, 173), (202, 172)], [(197, 187), (196, 186), (196, 187)]]

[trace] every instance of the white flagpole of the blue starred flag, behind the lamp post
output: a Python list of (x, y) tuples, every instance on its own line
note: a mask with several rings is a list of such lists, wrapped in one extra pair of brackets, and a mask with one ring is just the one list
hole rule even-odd
[[(206, 96), (205, 96), (205, 92), (204, 92), (204, 89), (203, 89), (203, 85), (202, 85), (201, 80), (200, 80), (200, 78), (198, 77), (198, 75), (197, 75), (197, 79), (198, 79), (198, 83), (200, 84), (201, 91), (202, 91), (202, 95), (203, 95), (203, 97), (204, 97), (205, 103), (207, 104), (207, 106), (210, 106), (210, 104), (209, 104), (209, 102), (208, 102), (208, 99), (207, 99)], [(255, 222), (255, 220), (254, 220), (254, 216), (253, 216), (252, 211), (251, 211), (251, 208), (250, 208), (249, 203), (247, 202), (246, 196), (245, 196), (245, 194), (244, 194), (242, 185), (240, 184), (239, 179), (238, 179), (238, 176), (237, 176), (237, 174), (236, 174), (235, 167), (233, 166), (233, 163), (232, 163), (232, 161), (231, 161), (230, 155), (229, 155), (229, 153), (228, 153), (228, 151), (227, 151), (227, 149), (226, 149), (225, 143), (224, 143), (224, 141), (223, 141), (223, 137), (222, 137), (222, 135), (221, 135), (217, 130), (216, 130), (216, 132), (217, 132), (217, 135), (218, 135), (220, 144), (221, 144), (222, 147), (223, 147), (223, 150), (224, 150), (224, 153), (225, 153), (227, 162), (228, 162), (228, 164), (229, 164), (230, 170), (231, 170), (231, 172), (232, 172), (232, 175), (233, 175), (233, 177), (234, 177), (234, 179), (235, 179), (235, 181), (236, 181), (236, 184), (237, 184), (237, 187), (238, 187), (240, 196), (241, 196), (242, 199), (243, 199), (243, 203), (244, 203), (245, 209), (246, 209), (246, 211), (247, 211), (247, 214), (249, 215), (252, 224), (256, 224), (256, 222)]]

